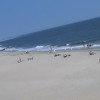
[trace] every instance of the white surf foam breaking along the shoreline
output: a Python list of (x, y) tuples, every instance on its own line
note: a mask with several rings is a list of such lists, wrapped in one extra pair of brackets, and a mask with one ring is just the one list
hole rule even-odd
[[(0, 47), (1, 49), (4, 49), (5, 47)], [(49, 51), (49, 50), (79, 50), (79, 49), (87, 49), (87, 45), (76, 45), (76, 46), (36, 46), (33, 48), (6, 48), (5, 51)], [(94, 44), (91, 46), (91, 48), (100, 48), (100, 44)]]

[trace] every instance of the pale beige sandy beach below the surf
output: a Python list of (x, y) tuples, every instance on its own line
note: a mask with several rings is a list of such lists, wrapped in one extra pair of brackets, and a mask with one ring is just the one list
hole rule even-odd
[(0, 100), (100, 100), (100, 51), (94, 52), (0, 52)]

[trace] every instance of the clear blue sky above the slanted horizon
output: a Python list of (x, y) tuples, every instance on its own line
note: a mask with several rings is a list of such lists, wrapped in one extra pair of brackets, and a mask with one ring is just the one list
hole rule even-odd
[(100, 0), (0, 0), (0, 41), (100, 17)]

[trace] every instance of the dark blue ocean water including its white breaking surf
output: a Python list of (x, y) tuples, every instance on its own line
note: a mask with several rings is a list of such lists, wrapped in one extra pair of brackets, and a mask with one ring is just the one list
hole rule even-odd
[(55, 50), (84, 49), (84, 43), (100, 48), (100, 17), (1, 41), (0, 49), (48, 51), (51, 46)]

